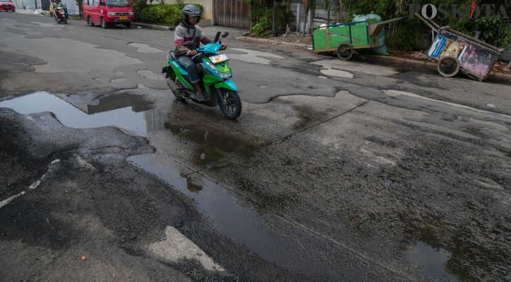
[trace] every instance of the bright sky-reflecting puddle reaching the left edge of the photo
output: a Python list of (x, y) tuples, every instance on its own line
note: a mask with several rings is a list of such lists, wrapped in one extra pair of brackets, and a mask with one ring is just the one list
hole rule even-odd
[[(114, 126), (130, 135), (147, 136), (154, 128), (150, 102), (133, 94), (114, 94), (100, 99), (98, 104), (69, 104), (47, 92), (36, 92), (0, 102), (0, 107), (11, 108), (20, 114), (51, 111), (59, 121), (70, 128), (97, 128)], [(162, 122), (162, 121), (160, 121)]]

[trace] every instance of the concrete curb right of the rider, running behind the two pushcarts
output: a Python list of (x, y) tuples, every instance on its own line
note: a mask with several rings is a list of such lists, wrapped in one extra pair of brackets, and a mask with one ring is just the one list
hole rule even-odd
[[(280, 45), (280, 46), (293, 46), (293, 47), (300, 47), (303, 49), (312, 49), (312, 45), (306, 45), (301, 43), (291, 43), (291, 42), (282, 42), (278, 40), (272, 40), (272, 39), (263, 39), (263, 38), (253, 38), (253, 37), (236, 37), (236, 40), (246, 41), (246, 42), (256, 42), (266, 45)], [(415, 59), (404, 59), (399, 58), (396, 56), (381, 56), (381, 55), (373, 55), (373, 54), (364, 54), (363, 56), (376, 59), (376, 60), (382, 60), (382, 61), (389, 61), (392, 63), (402, 63), (404, 65), (409, 66), (424, 66), (427, 68), (432, 68), (436, 70), (437, 63), (429, 62), (429, 61), (423, 61), (423, 60), (415, 60)], [(505, 73), (495, 73), (491, 72), (488, 75), (488, 78), (498, 78), (500, 80), (507, 80), (507, 82), (511, 82), (511, 74), (505, 74)]]

